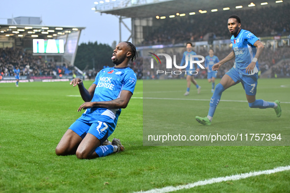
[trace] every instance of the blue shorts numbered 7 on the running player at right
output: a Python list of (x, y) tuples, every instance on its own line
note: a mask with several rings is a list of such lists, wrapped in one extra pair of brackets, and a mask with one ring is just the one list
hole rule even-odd
[(240, 82), (243, 85), (247, 95), (256, 95), (258, 85), (257, 73), (253, 75), (244, 75), (237, 72), (235, 68), (232, 68), (226, 74), (228, 74), (236, 82), (236, 84)]

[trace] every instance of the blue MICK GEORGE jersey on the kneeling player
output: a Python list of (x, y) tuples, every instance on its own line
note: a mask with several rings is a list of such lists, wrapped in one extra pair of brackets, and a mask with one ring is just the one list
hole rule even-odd
[[(109, 101), (120, 97), (122, 90), (130, 91), (132, 94), (136, 85), (136, 74), (129, 67), (106, 68), (101, 70), (93, 84), (96, 84), (92, 102)], [(106, 115), (115, 122), (121, 113), (121, 109), (88, 108), (79, 119), (95, 122), (98, 121), (94, 115)]]

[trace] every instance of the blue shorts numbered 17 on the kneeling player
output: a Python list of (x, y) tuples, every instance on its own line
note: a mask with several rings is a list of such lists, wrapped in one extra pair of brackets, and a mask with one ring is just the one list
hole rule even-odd
[(69, 127), (69, 129), (76, 132), (82, 139), (87, 133), (94, 135), (101, 141), (101, 144), (114, 132), (115, 128), (114, 120), (105, 115), (99, 115), (94, 122), (77, 119)]

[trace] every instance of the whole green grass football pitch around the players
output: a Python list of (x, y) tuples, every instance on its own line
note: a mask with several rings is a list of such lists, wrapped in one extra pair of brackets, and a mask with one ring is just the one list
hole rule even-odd
[[(197, 123), (194, 116), (207, 115), (211, 84), (207, 80), (197, 81), (202, 86), (201, 93), (197, 95), (192, 86), (186, 97), (183, 96), (185, 80), (137, 81), (131, 101), (122, 110), (116, 130), (109, 137), (109, 140), (120, 138), (125, 151), (93, 160), (79, 160), (74, 155), (56, 156), (54, 152), (62, 135), (81, 114), (77, 112), (83, 102), (78, 88), (69, 82), (20, 83), (19, 87), (13, 83), (0, 84), (0, 192), (127, 193), (290, 165), (290, 146), (143, 146), (143, 96), (186, 99), (182, 103), (150, 99), (149, 104), (164, 107), (149, 108), (152, 121), (144, 122), (149, 126), (158, 125), (164, 130), (170, 123), (180, 121), (178, 125), (187, 130), (209, 128)], [(91, 83), (85, 81), (85, 87)], [(151, 93), (146, 94), (147, 86)], [(281, 118), (275, 118), (272, 109), (250, 109), (246, 102), (224, 101), (217, 107), (211, 126), (217, 131), (227, 127), (246, 130), (261, 125), (268, 131), (270, 128), (288, 131), (289, 94), (290, 79), (260, 79), (257, 98), (279, 99)], [(246, 100), (241, 85), (225, 91), (221, 99)], [(176, 110), (176, 117), (172, 110)], [(155, 122), (159, 119), (163, 121)], [(179, 192), (289, 190), (288, 170)]]

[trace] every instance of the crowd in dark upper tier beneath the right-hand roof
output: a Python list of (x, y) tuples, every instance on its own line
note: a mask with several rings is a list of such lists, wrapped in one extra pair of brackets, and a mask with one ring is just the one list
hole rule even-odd
[(275, 8), (251, 7), (249, 9), (227, 10), (207, 14), (187, 15), (165, 20), (155, 19), (158, 27), (153, 27), (151, 32), (138, 46), (158, 44), (178, 44), (194, 41), (212, 41), (228, 39), (227, 20), (230, 15), (241, 18), (243, 29), (247, 29), (259, 36), (276, 36), (290, 34), (290, 3)]

